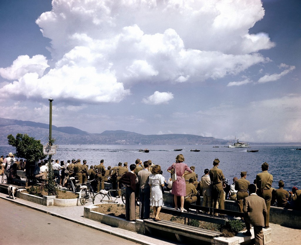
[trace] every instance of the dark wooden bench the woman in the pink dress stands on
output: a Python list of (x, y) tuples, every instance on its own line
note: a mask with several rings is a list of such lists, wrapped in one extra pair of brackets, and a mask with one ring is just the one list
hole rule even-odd
[(228, 221), (227, 218), (221, 218), (221, 217), (217, 217), (217, 216), (214, 217), (214, 216), (209, 216), (207, 214), (202, 214), (202, 213), (181, 212), (181, 211), (176, 211), (174, 208), (168, 208), (168, 207), (162, 207), (160, 212), (171, 214), (173, 216), (183, 217), (183, 218), (185, 218), (184, 224), (186, 224), (186, 218), (188, 219), (188, 222), (190, 219), (196, 219), (196, 220), (200, 220), (200, 221), (219, 224), (219, 225), (221, 225), (220, 230), (222, 230), (222, 225), (225, 225), (226, 222)]

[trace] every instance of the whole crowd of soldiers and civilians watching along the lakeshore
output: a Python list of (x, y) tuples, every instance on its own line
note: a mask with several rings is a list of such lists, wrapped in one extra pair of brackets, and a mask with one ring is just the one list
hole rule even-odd
[[(52, 162), (53, 161), (53, 162)], [(269, 210), (270, 206), (278, 206), (284, 208), (301, 208), (301, 190), (293, 187), (292, 191), (284, 189), (284, 181), (278, 181), (278, 189), (272, 188), (273, 175), (268, 172), (268, 163), (263, 163), (261, 166), (262, 172), (256, 175), (253, 184), (247, 180), (247, 171), (240, 172), (240, 178), (234, 177), (233, 183), (228, 184), (221, 169), (219, 169), (219, 159), (213, 161), (211, 169), (204, 169), (204, 175), (198, 180), (198, 175), (194, 172), (195, 167), (188, 167), (184, 163), (185, 159), (182, 154), (179, 154), (175, 163), (170, 166), (167, 171), (171, 177), (166, 181), (162, 175), (160, 165), (154, 165), (151, 160), (142, 161), (137, 159), (135, 164), (131, 164), (128, 169), (128, 163), (118, 163), (118, 166), (108, 166), (105, 168), (104, 160), (101, 160), (98, 165), (87, 165), (87, 161), (83, 160), (68, 160), (67, 163), (59, 160), (51, 160), (54, 177), (57, 184), (63, 187), (67, 183), (67, 178), (75, 177), (79, 183), (85, 183), (87, 179), (95, 180), (93, 188), (99, 192), (104, 189), (104, 182), (109, 181), (113, 186), (113, 195), (121, 194), (120, 189), (126, 186), (126, 220), (135, 220), (135, 203), (139, 202), (139, 218), (148, 219), (150, 217), (150, 207), (153, 206), (155, 220), (160, 219), (160, 209), (163, 203), (164, 191), (170, 191), (174, 195), (175, 210), (186, 212), (189, 210), (189, 205), (196, 203), (200, 205), (200, 197), (203, 196), (202, 206), (216, 209), (225, 209), (225, 200), (234, 200), (237, 202), (240, 212), (245, 213), (245, 222), (257, 225), (256, 236), (259, 239), (262, 237), (262, 229), (260, 226), (269, 228)], [(0, 158), (0, 174), (4, 174), (7, 170), (8, 179), (18, 178), (17, 170), (33, 172), (35, 178), (47, 178), (48, 160), (41, 160), (34, 171), (29, 171), (26, 166), (26, 161), (16, 159), (12, 153), (9, 153), (5, 158)], [(27, 174), (26, 174), (27, 176)], [(257, 197), (251, 197), (256, 195)], [(260, 197), (261, 199), (258, 199)], [(247, 201), (246, 201), (247, 200)], [(264, 200), (264, 205), (260, 203)], [(258, 207), (252, 206), (257, 203)], [(253, 208), (257, 211), (262, 207), (260, 221), (256, 222), (250, 217)], [(209, 209), (210, 210), (210, 209)], [(201, 212), (196, 210), (196, 212)], [(203, 211), (205, 212), (205, 211)], [(219, 210), (219, 216), (224, 214)], [(210, 211), (209, 211), (210, 213)], [(215, 215), (218, 215), (215, 213)], [(256, 216), (257, 217), (257, 216)], [(262, 223), (262, 219), (264, 222)], [(255, 224), (256, 223), (256, 224)], [(264, 225), (262, 225), (264, 224)], [(255, 229), (254, 229), (255, 230)], [(250, 233), (249, 226), (247, 232)]]

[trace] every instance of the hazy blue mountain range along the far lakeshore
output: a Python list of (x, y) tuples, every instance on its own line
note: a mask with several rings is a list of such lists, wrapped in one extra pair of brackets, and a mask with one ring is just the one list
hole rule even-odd
[[(26, 133), (30, 137), (47, 143), (49, 124), (5, 119), (0, 117), (0, 145), (8, 144), (7, 136), (17, 133)], [(233, 140), (216, 139), (188, 134), (142, 135), (123, 130), (104, 131), (101, 134), (92, 134), (74, 127), (56, 127), (52, 125), (52, 137), (56, 144), (212, 144), (226, 145)], [(251, 143), (251, 142), (250, 142)], [(254, 144), (254, 143), (253, 143)], [(300, 144), (291, 143), (256, 143), (256, 144)]]

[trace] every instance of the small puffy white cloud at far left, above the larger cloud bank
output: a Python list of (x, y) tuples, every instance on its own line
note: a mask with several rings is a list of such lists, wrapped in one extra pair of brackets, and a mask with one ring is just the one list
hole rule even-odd
[(43, 76), (45, 69), (49, 67), (47, 59), (43, 55), (20, 55), (10, 67), (0, 68), (0, 75), (9, 80), (19, 79), (27, 73), (37, 73)]

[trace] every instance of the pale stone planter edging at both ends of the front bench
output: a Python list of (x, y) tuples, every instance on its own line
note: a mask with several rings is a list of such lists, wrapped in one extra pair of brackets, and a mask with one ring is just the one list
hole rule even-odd
[[(140, 234), (145, 234), (145, 226), (144, 222), (141, 219), (136, 219), (136, 222), (126, 221), (124, 219), (120, 219), (118, 217), (110, 216), (107, 214), (99, 213), (93, 211), (93, 209), (97, 209), (97, 206), (91, 205), (88, 207), (84, 207), (84, 217), (87, 219), (92, 219), (95, 221), (99, 221), (106, 225), (115, 226), (118, 228), (122, 228), (128, 231), (134, 231)], [(217, 237), (214, 238), (214, 243), (216, 245), (239, 245), (239, 244), (254, 244), (254, 231), (251, 228), (251, 237), (246, 237), (243, 234), (243, 231), (240, 231), (234, 237)], [(263, 229), (263, 244), (267, 244), (272, 241), (272, 229)], [(200, 239), (201, 240), (201, 239)]]

